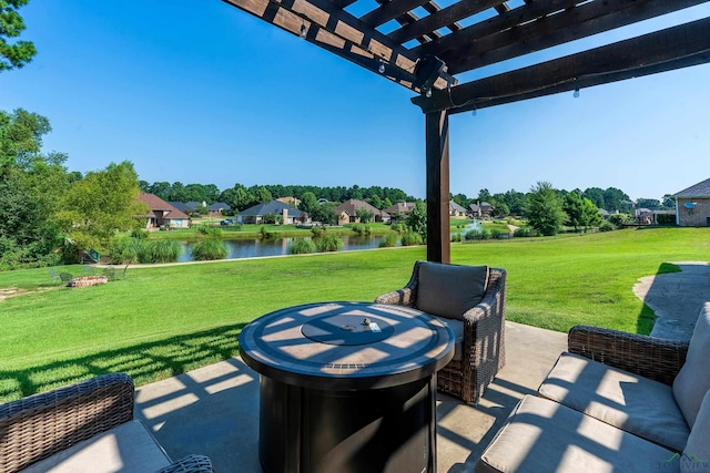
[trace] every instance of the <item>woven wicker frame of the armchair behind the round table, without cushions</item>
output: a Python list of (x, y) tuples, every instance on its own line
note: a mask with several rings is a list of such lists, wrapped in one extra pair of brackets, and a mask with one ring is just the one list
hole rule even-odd
[[(419, 267), (414, 265), (409, 282), (402, 289), (375, 299), (378, 304), (417, 307)], [(484, 298), (463, 315), (464, 339), (460, 360), (452, 360), (437, 373), (438, 389), (477, 403), (486, 387), (506, 363), (506, 270), (489, 268)]]

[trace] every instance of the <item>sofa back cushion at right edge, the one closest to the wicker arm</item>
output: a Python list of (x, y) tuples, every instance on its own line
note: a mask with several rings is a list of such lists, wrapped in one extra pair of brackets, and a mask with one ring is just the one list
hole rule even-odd
[(710, 390), (708, 359), (710, 359), (710, 302), (706, 302), (700, 309), (696, 328), (690, 337), (686, 363), (673, 380), (676, 402), (691, 428), (696, 422), (702, 398)]

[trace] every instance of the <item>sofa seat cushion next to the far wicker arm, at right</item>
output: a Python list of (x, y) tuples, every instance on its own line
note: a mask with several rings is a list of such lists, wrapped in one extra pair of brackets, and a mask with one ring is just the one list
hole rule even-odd
[(538, 392), (677, 452), (690, 434), (670, 385), (578, 354), (562, 353)]

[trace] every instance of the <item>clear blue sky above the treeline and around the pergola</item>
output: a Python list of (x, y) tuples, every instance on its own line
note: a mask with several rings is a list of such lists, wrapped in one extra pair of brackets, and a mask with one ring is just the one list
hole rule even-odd
[[(444, 2), (446, 4), (446, 2)], [(131, 161), (150, 183), (398, 187), (425, 195), (412, 92), (220, 0), (30, 0), (39, 53), (0, 73), (0, 110), (47, 116), (71, 171)], [(648, 22), (710, 16), (710, 4)], [(649, 25), (613, 33), (620, 40)], [(597, 39), (559, 48), (568, 54)], [(516, 69), (549, 53), (487, 68)], [(476, 78), (471, 72), (463, 79)], [(450, 189), (539, 181), (658, 198), (710, 177), (710, 65), (450, 120)]]

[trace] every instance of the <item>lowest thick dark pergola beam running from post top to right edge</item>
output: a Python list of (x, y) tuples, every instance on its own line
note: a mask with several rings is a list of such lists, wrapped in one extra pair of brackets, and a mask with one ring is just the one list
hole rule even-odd
[(495, 76), (412, 102), (452, 114), (710, 62), (710, 18)]

